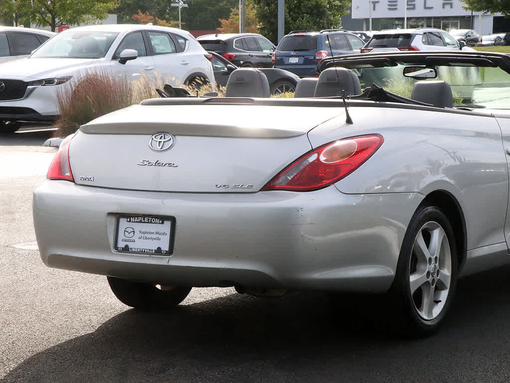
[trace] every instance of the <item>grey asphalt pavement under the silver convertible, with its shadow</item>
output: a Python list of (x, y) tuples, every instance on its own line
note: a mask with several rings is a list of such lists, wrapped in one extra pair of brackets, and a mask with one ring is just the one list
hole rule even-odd
[(510, 381), (508, 267), (462, 280), (439, 333), (409, 339), (379, 299), (193, 289), (144, 313), (103, 276), (44, 266), (31, 201), (51, 134), (0, 137), (0, 382)]

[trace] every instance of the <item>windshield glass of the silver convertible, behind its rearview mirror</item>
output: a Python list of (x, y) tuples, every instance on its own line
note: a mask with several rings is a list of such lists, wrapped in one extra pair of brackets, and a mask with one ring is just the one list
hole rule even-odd
[(384, 68), (349, 67), (359, 75), (362, 89), (376, 84), (389, 92), (411, 98), (417, 81), (446, 81), (451, 87), (455, 108), (510, 109), (510, 74), (500, 67), (454, 62), (427, 65), (436, 69), (437, 78), (416, 80), (403, 76), (403, 68), (406, 66), (409, 65), (399, 63), (395, 67)]

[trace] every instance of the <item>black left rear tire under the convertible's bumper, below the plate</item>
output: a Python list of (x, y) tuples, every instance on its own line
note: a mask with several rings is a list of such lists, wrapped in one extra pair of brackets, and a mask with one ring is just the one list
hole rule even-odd
[(118, 300), (140, 310), (170, 310), (181, 303), (191, 291), (191, 287), (184, 286), (162, 290), (156, 284), (133, 282), (113, 276), (108, 276), (108, 284)]

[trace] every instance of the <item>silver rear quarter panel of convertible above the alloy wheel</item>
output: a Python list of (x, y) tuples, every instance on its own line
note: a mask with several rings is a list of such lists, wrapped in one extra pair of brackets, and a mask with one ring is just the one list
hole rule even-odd
[(385, 142), (336, 184), (347, 194), (446, 190), (460, 203), (473, 249), (504, 242), (508, 174), (495, 118), (435, 108), (353, 107), (309, 133), (313, 147), (370, 133)]

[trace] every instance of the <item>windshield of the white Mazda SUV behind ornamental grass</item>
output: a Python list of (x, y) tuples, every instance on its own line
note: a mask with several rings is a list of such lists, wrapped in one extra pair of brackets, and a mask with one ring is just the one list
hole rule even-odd
[(105, 31), (61, 32), (41, 45), (30, 57), (99, 59), (105, 57), (117, 35), (118, 32)]

